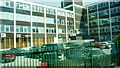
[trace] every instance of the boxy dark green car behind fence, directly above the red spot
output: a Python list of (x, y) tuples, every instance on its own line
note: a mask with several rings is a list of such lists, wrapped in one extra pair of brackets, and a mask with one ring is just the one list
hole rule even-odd
[(63, 44), (44, 44), (42, 46), (41, 65), (47, 67), (58, 66), (64, 60)]

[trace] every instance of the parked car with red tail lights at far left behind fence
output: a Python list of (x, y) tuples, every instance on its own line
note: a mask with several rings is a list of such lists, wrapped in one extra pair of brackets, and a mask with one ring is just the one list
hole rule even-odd
[(11, 53), (10, 50), (2, 51), (2, 63), (13, 62), (16, 59), (16, 55)]

